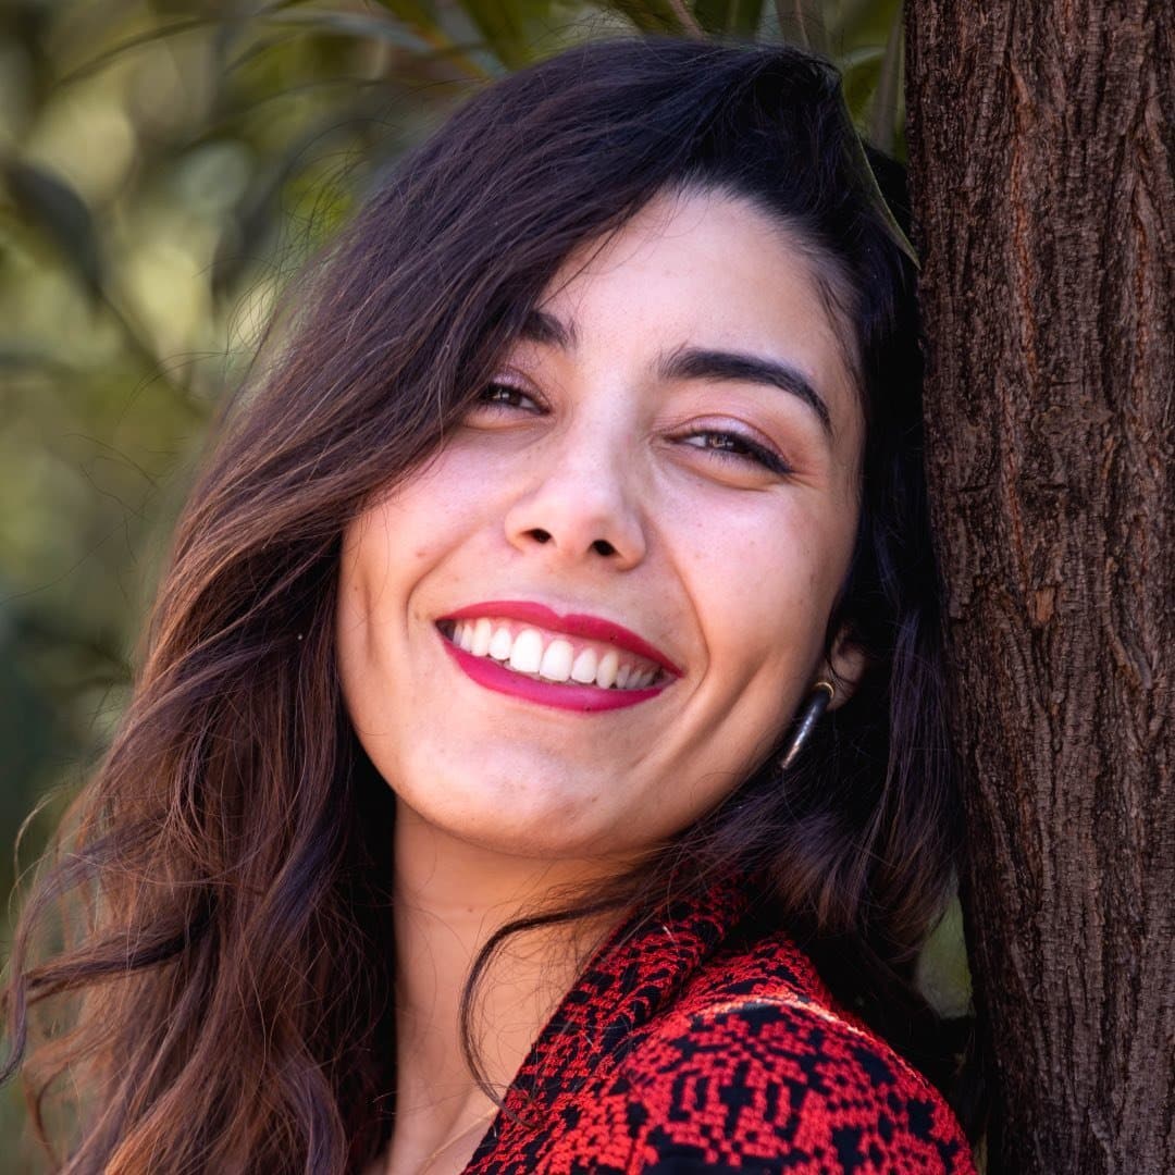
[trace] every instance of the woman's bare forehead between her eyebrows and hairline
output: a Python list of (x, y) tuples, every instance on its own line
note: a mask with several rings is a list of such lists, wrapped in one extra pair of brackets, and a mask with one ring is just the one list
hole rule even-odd
[(662, 370), (683, 352), (754, 357), (803, 376), (852, 432), (857, 380), (828, 301), (812, 250), (776, 217), (690, 190), (569, 256), (522, 335), (571, 360)]

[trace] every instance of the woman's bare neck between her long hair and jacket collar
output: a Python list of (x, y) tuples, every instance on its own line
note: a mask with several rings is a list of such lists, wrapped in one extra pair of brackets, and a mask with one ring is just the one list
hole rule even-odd
[[(605, 871), (598, 861), (491, 852), (449, 837), (403, 804), (394, 852), (397, 1080), (388, 1170), (427, 1166), (436, 1175), (464, 1166), (495, 1108), (462, 1047), (462, 996), (478, 952), (506, 922), (553, 908), (559, 894), (600, 880)], [(499, 1096), (618, 916), (521, 932), (494, 956), (478, 983), (471, 1043)], [(446, 1147), (463, 1128), (468, 1139)], [(443, 1146), (448, 1157), (427, 1163)]]

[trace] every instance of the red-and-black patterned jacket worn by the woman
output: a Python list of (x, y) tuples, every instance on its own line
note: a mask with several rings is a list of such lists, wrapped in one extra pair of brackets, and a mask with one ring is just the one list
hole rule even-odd
[[(935, 1089), (727, 881), (618, 931), (548, 1022), (466, 1175), (966, 1173)], [(741, 924), (741, 925), (740, 925)]]

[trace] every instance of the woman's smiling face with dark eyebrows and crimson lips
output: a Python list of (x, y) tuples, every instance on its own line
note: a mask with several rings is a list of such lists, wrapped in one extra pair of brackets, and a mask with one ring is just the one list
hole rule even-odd
[(658, 199), (540, 311), (348, 528), (340, 669), (435, 828), (624, 857), (728, 794), (827, 673), (862, 421), (808, 261), (745, 201)]

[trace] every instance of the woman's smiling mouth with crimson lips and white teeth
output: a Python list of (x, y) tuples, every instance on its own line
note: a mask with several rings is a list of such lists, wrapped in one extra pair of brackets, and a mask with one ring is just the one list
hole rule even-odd
[[(680, 670), (636, 633), (529, 600), (488, 600), (442, 617), (449, 654), (485, 689), (593, 713), (657, 697)], [(509, 666), (509, 667), (508, 667)]]

